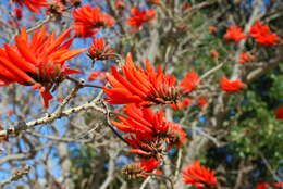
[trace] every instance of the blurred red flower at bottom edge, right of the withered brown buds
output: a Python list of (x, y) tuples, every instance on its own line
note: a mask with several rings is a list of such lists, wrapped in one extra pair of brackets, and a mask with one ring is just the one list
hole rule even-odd
[(183, 181), (196, 186), (198, 189), (218, 186), (214, 173), (200, 165), (199, 161), (192, 163), (183, 171)]

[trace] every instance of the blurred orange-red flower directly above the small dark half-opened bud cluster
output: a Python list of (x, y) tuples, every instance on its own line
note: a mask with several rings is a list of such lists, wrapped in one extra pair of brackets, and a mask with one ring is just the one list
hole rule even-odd
[(75, 9), (73, 17), (77, 37), (91, 37), (97, 33), (97, 28), (112, 27), (115, 23), (112, 16), (89, 4)]

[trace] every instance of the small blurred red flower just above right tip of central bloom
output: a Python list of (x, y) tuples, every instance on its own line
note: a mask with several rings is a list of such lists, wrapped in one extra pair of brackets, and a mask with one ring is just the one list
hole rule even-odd
[(183, 89), (185, 93), (189, 93), (197, 88), (199, 83), (200, 80), (198, 74), (195, 71), (190, 71), (180, 83), (180, 87)]

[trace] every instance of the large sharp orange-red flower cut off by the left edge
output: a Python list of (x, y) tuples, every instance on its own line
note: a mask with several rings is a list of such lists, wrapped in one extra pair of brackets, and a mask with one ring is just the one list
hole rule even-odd
[[(56, 39), (46, 27), (38, 29), (28, 40), (26, 29), (15, 37), (15, 45), (0, 49), (0, 85), (19, 83), (40, 89), (44, 104), (52, 98), (49, 92), (64, 80), (65, 75), (79, 73), (64, 65), (66, 60), (82, 53), (85, 49), (69, 50), (73, 38), (65, 41), (71, 29), (65, 30)], [(65, 42), (64, 42), (65, 41)], [(64, 43), (63, 43), (64, 42)]]

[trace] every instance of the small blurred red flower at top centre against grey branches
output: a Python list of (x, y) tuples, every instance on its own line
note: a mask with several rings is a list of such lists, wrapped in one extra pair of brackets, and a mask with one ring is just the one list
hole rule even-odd
[(152, 9), (140, 11), (138, 8), (133, 8), (131, 14), (133, 16), (127, 18), (127, 24), (135, 28), (140, 28), (143, 24), (156, 18), (156, 11)]

